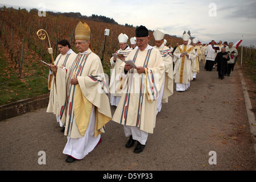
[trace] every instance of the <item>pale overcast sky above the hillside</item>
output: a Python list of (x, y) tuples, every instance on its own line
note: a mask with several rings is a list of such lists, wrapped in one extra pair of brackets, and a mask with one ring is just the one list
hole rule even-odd
[[(46, 6), (47, 10), (79, 12), (82, 15), (104, 15), (119, 24), (144, 25), (150, 30), (162, 28), (166, 34), (181, 37), (184, 30), (201, 42), (214, 39), (256, 46), (256, 1), (255, 0), (0, 0), (1, 4), (35, 7)], [(243, 38), (242, 38), (243, 35)]]

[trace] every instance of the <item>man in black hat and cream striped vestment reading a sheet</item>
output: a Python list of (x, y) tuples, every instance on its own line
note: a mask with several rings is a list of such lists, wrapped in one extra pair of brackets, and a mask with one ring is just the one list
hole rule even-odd
[(158, 49), (148, 45), (150, 37), (144, 26), (136, 29), (138, 49), (131, 51), (126, 60), (136, 65), (121, 65), (119, 88), (123, 91), (121, 100), (113, 115), (113, 121), (124, 125), (126, 147), (137, 141), (135, 153), (146, 146), (148, 133), (153, 133), (156, 121), (156, 104), (163, 85), (164, 64)]

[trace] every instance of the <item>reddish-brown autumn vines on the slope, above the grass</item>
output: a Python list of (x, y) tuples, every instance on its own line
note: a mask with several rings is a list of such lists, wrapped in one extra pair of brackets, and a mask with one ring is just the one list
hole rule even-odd
[[(16, 61), (21, 55), (22, 39), (25, 40), (25, 50), (30, 55), (37, 55), (41, 59), (46, 58), (47, 55), (47, 43), (46, 41), (39, 40), (36, 37), (36, 31), (44, 29), (48, 32), (53, 50), (56, 52), (56, 43), (58, 40), (67, 39), (71, 44), (74, 43), (75, 38), (75, 27), (79, 21), (85, 22), (90, 26), (92, 32), (92, 47), (95, 53), (102, 57), (102, 50), (104, 46), (104, 30), (108, 28), (110, 35), (106, 38), (106, 48), (104, 57), (106, 60), (110, 59), (113, 52), (119, 49), (118, 47), (118, 35), (122, 32), (131, 38), (135, 36), (135, 28), (121, 26), (119, 24), (110, 24), (104, 22), (95, 22), (92, 20), (84, 20), (79, 18), (67, 17), (64, 15), (48, 15), (38, 16), (37, 11), (28, 12), (26, 9), (15, 10), (13, 8), (6, 9), (2, 7), (0, 11), (0, 31), (1, 40), (5, 50), (8, 50), (8, 57), (10, 61)], [(142, 22), (143, 24), (143, 22)], [(11, 32), (13, 32), (11, 37)], [(154, 46), (154, 38), (152, 32), (151, 46)], [(176, 42), (180, 42), (180, 38), (176, 36), (166, 35), (165, 37), (168, 43), (174, 45)], [(13, 39), (13, 40), (11, 40)], [(39, 58), (39, 57), (35, 58)], [(15, 63), (18, 64), (18, 61)]]

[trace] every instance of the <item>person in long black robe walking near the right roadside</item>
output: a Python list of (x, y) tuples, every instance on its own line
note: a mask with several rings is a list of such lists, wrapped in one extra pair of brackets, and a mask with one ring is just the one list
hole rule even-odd
[(230, 59), (228, 53), (225, 52), (226, 48), (222, 47), (221, 52), (217, 53), (214, 64), (217, 64), (218, 78), (223, 79), (226, 71), (227, 61)]

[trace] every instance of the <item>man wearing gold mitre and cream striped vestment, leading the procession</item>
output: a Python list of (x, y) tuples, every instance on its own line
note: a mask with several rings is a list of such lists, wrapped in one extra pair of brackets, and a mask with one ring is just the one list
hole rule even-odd
[(77, 24), (75, 39), (79, 54), (67, 75), (67, 144), (63, 154), (68, 155), (68, 163), (83, 159), (101, 142), (101, 133), (112, 118), (108, 85), (100, 57), (90, 46), (88, 24)]

